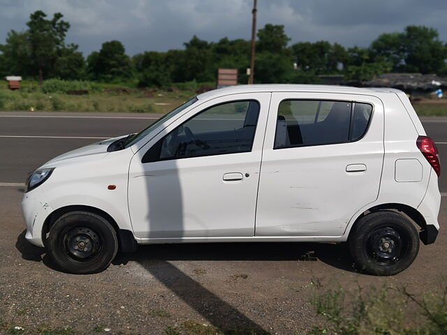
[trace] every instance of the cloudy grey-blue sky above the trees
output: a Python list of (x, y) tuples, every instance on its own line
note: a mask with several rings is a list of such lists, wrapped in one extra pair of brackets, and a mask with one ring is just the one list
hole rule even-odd
[[(120, 40), (128, 54), (179, 49), (196, 34), (208, 41), (251, 36), (253, 0), (0, 0), (0, 43), (10, 29), (27, 28), (29, 14), (61, 12), (66, 41), (87, 56)], [(409, 24), (439, 31), (447, 42), (447, 0), (258, 0), (258, 28), (283, 24), (291, 43), (329, 40), (367, 46)]]

